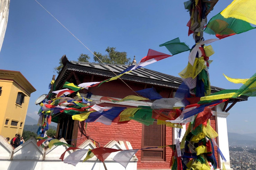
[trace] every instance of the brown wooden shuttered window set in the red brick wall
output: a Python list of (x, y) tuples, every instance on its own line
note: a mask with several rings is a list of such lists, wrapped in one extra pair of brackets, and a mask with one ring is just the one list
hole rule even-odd
[[(165, 145), (165, 125), (142, 126), (142, 148), (159, 147)], [(141, 160), (164, 161), (165, 148), (153, 148), (141, 151)]]

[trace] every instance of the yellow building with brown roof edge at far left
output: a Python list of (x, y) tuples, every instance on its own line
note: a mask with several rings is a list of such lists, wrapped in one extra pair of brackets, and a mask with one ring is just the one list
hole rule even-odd
[(22, 135), (30, 94), (36, 89), (19, 72), (0, 70), (0, 135)]

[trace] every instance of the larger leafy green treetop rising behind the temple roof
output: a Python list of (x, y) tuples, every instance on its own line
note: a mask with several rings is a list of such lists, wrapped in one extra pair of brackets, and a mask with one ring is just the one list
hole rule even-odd
[(115, 47), (108, 47), (106, 49), (108, 54), (102, 55), (101, 53), (94, 52), (93, 61), (106, 64), (129, 64), (131, 58), (127, 58), (126, 52), (118, 52)]

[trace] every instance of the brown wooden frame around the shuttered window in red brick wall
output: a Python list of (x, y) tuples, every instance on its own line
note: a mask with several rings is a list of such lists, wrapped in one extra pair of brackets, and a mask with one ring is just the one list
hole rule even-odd
[[(156, 124), (156, 121), (154, 122), (154, 125)], [(165, 146), (165, 125), (157, 125), (161, 126), (161, 146)], [(145, 128), (147, 125), (142, 125), (142, 140), (141, 140), (141, 147), (142, 148), (150, 148), (150, 147), (157, 147), (157, 146), (146, 146), (145, 145)], [(156, 156), (145, 156), (145, 154), (159, 154), (161, 153), (161, 158), (156, 157)], [(165, 156), (165, 147), (163, 148), (151, 148), (151, 149), (144, 149), (141, 150), (141, 161), (166, 161), (166, 156)]]

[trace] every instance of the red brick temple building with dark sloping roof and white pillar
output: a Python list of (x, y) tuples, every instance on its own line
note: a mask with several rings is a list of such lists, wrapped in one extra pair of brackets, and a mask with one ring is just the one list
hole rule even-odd
[[(135, 64), (135, 60), (133, 64)], [(115, 74), (121, 73), (129, 65), (121, 64), (99, 64), (68, 61), (67, 57), (62, 56), (63, 67), (57, 79), (55, 80), (54, 89), (49, 91), (48, 95), (54, 90), (62, 89), (63, 84), (68, 81), (74, 84), (83, 82), (100, 82)], [(114, 73), (113, 73), (114, 72)], [(122, 76), (122, 80), (117, 79), (101, 84), (100, 87), (91, 87), (81, 89), (79, 93), (82, 97), (90, 98), (95, 103), (101, 97), (107, 96), (116, 99), (122, 99), (129, 95), (135, 95), (134, 91), (154, 87), (163, 98), (174, 98), (175, 92), (182, 83), (182, 79), (172, 75), (160, 73), (157, 71), (145, 69), (143, 67), (133, 70)], [(211, 86), (211, 91), (217, 92), (221, 88)], [(73, 95), (73, 96), (72, 96)], [(51, 98), (54, 96), (51, 96)], [(79, 100), (76, 94), (69, 97)], [(247, 97), (241, 96), (236, 99), (231, 98), (226, 103), (222, 103), (212, 108), (213, 116), (210, 118), (212, 128), (217, 131), (219, 137), (215, 139), (223, 155), (227, 160), (226, 168), (230, 169), (229, 149), (227, 137), (228, 111), (238, 101), (245, 101)], [(122, 103), (113, 103), (106, 101), (97, 104), (99, 106), (109, 107), (148, 107), (153, 101), (124, 101)], [(175, 104), (175, 106), (179, 106)], [(52, 121), (58, 123), (57, 138), (65, 138), (69, 143), (79, 147), (87, 138), (98, 141), (100, 146), (105, 146), (110, 140), (129, 141), (133, 148), (148, 148), (173, 145), (177, 138), (177, 129), (167, 125), (159, 125), (154, 122), (153, 125), (144, 125), (134, 120), (128, 123), (111, 123), (105, 125), (100, 122), (87, 123), (74, 121), (68, 114), (59, 113), (52, 117)], [(183, 127), (182, 134), (185, 133), (186, 125)], [(221, 166), (220, 158), (217, 154), (217, 147), (214, 147), (215, 157), (218, 167)], [(138, 169), (169, 169), (172, 150), (169, 147), (154, 148), (148, 150), (139, 150), (136, 154), (138, 158)]]

